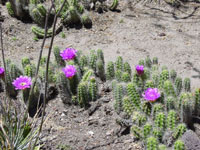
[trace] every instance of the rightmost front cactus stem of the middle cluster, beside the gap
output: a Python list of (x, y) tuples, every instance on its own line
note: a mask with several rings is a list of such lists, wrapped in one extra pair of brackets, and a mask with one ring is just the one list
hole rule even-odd
[(102, 80), (102, 81), (105, 81), (105, 69), (104, 69), (104, 63), (102, 60), (97, 60), (97, 63), (96, 63), (96, 73), (97, 75), (99, 76), (99, 78)]

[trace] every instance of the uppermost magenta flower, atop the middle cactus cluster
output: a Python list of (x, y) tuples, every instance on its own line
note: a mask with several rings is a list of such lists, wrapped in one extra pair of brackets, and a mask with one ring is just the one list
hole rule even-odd
[(72, 60), (76, 57), (77, 50), (73, 48), (66, 48), (62, 52), (60, 52), (60, 56), (63, 60)]

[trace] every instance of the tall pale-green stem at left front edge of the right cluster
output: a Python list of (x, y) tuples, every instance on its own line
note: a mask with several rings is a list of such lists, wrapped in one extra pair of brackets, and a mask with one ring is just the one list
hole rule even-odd
[(122, 99), (124, 96), (123, 86), (121, 84), (116, 85), (116, 88), (114, 90), (114, 95), (115, 95), (114, 108), (117, 113), (120, 113), (123, 110)]

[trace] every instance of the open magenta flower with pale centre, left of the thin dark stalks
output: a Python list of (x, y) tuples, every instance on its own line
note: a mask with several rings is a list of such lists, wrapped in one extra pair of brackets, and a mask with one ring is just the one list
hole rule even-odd
[(15, 86), (15, 90), (24, 90), (30, 88), (32, 82), (30, 77), (20, 76), (12, 84)]

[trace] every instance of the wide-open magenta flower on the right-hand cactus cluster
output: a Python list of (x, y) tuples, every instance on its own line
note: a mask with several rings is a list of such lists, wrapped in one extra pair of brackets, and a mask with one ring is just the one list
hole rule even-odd
[(160, 92), (157, 88), (148, 88), (142, 96), (147, 101), (154, 102), (160, 97)]

